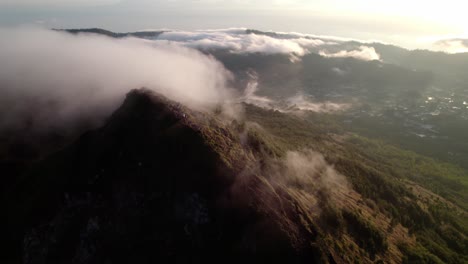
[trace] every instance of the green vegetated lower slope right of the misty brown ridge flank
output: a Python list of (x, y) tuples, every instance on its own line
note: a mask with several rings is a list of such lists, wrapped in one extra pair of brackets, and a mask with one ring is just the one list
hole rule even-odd
[[(326, 115), (291, 116), (246, 106), (247, 119), (263, 128), (263, 148), (281, 156), (291, 149), (313, 149), (351, 182), (353, 189), (390, 219), (402, 225), (414, 243), (394, 242), (407, 263), (468, 262), (468, 171), (404, 150), (382, 140), (346, 133)], [(351, 201), (350, 201), (351, 203)], [(350, 207), (353, 207), (350, 205)], [(355, 208), (362, 208), (357, 205)], [(335, 216), (350, 227), (351, 237), (367, 253), (386, 247), (390, 231), (371, 231), (377, 221), (356, 211)], [(366, 219), (361, 221), (361, 219)], [(370, 222), (366, 222), (369, 221)], [(370, 241), (370, 242), (369, 242)], [(369, 244), (370, 243), (370, 244)], [(340, 246), (342, 247), (342, 245)]]

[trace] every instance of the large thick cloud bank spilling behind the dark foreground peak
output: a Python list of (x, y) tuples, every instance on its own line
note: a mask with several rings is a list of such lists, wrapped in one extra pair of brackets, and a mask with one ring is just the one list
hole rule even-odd
[(180, 45), (37, 28), (0, 35), (0, 129), (106, 116), (141, 87), (196, 109), (229, 97), (222, 64)]

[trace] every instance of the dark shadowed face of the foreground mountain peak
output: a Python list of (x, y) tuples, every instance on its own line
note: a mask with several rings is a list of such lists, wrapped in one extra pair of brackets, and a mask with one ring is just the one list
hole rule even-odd
[(102, 128), (39, 162), (8, 194), (12, 255), (23, 263), (323, 258), (262, 206), (272, 199), (259, 178), (243, 175), (254, 158), (235, 129), (207, 119), (130, 92)]

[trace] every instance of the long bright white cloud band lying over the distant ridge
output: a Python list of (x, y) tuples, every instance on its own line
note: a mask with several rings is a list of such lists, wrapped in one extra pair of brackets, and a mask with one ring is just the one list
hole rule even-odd
[(302, 57), (315, 52), (325, 57), (353, 57), (360, 60), (379, 60), (374, 48), (365, 45), (357, 49), (329, 53), (328, 48), (349, 40), (319, 37), (301, 33), (261, 32), (245, 28), (166, 31), (154, 41), (178, 43), (202, 50), (222, 49), (234, 53), (291, 54)]

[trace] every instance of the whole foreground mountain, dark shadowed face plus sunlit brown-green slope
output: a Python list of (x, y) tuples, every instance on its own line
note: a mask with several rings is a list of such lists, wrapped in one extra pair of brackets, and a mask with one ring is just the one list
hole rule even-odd
[(406, 175), (422, 170), (319, 117), (244, 110), (228, 120), (130, 92), (103, 127), (9, 188), (0, 260), (466, 260), (463, 191), (446, 200)]

